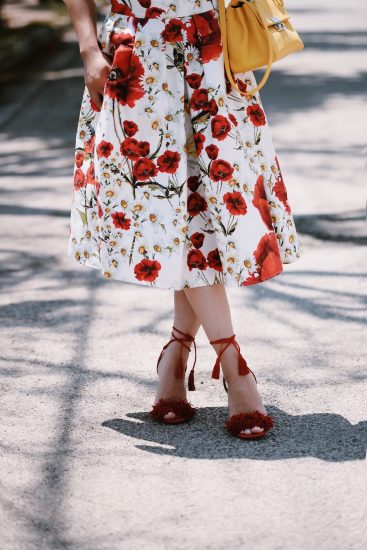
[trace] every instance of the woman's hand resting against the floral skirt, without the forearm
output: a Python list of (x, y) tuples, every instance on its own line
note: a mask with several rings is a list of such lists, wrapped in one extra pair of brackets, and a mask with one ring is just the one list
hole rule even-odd
[(101, 108), (103, 89), (111, 70), (111, 60), (101, 50), (93, 50), (82, 55), (84, 61), (84, 81), (93, 103)]

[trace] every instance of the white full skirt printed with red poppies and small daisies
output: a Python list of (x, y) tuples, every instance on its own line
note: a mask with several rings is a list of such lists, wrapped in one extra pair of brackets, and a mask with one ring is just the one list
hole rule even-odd
[[(225, 75), (217, 0), (112, 0), (85, 87), (68, 258), (145, 286), (247, 286), (300, 256), (259, 94)], [(252, 72), (234, 75), (239, 88)]]

